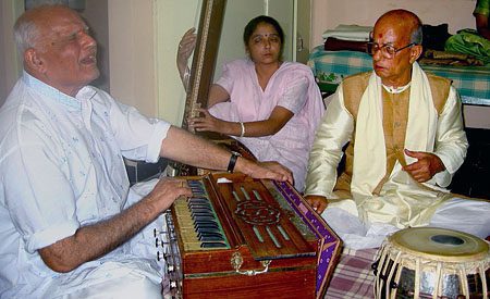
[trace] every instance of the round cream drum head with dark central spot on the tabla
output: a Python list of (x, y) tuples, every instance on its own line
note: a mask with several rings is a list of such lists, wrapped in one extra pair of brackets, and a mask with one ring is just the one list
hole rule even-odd
[(458, 231), (438, 227), (412, 227), (389, 237), (393, 246), (439, 261), (485, 259), (489, 246), (482, 239)]

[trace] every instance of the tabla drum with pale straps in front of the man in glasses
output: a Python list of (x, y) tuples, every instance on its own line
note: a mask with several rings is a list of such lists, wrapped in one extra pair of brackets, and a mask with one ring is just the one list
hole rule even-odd
[(372, 264), (376, 298), (489, 298), (489, 245), (473, 235), (413, 227), (389, 236)]

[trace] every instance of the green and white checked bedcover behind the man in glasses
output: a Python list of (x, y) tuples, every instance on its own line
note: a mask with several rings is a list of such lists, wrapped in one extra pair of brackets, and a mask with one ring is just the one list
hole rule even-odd
[[(371, 57), (359, 51), (324, 51), (323, 46), (309, 54), (320, 90), (332, 94), (342, 78), (372, 70)], [(420, 65), (425, 71), (453, 80), (464, 104), (490, 105), (490, 66)]]

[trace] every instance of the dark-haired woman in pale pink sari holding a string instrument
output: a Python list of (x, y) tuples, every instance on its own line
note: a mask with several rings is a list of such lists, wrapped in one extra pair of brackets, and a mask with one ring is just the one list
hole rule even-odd
[[(311, 70), (281, 60), (284, 34), (270, 16), (253, 18), (243, 35), (247, 59), (225, 63), (211, 86), (208, 109), (189, 120), (196, 130), (230, 135), (259, 161), (278, 161), (303, 191), (308, 154), (324, 107)], [(181, 40), (177, 67), (185, 79), (195, 35)]]

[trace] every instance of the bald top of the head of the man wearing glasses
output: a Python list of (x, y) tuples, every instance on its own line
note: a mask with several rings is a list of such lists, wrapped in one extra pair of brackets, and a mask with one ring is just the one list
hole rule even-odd
[(422, 23), (413, 12), (407, 10), (392, 10), (376, 21), (375, 28), (391, 28), (396, 33), (408, 35), (407, 42), (421, 45)]

